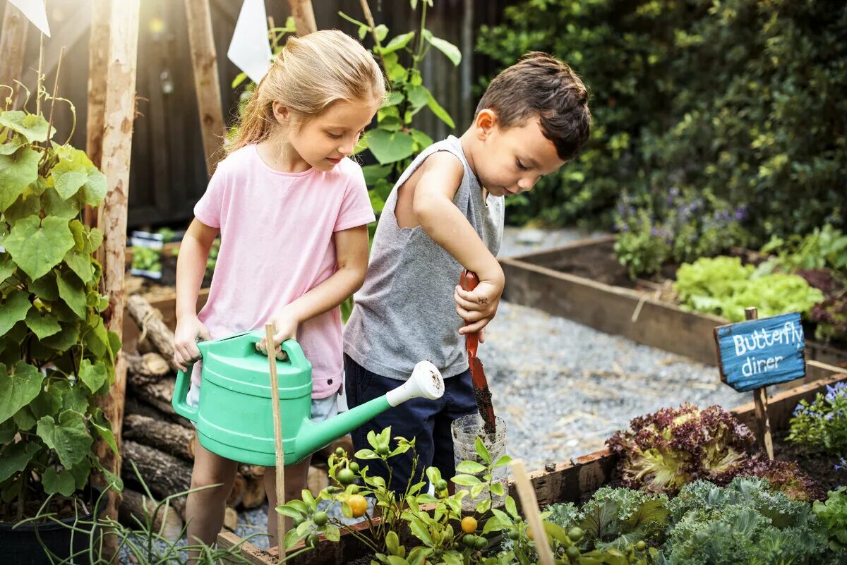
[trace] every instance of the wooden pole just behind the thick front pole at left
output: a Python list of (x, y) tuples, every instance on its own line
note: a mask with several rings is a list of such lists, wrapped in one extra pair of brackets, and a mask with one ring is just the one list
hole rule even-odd
[[(108, 73), (110, 0), (91, 3), (91, 36), (88, 40), (88, 111), (86, 113), (86, 154), (94, 166), (102, 164), (103, 120), (106, 115), (106, 83)], [(97, 225), (97, 211), (86, 206), (83, 221), (92, 228)], [(100, 257), (102, 260), (102, 257)]]

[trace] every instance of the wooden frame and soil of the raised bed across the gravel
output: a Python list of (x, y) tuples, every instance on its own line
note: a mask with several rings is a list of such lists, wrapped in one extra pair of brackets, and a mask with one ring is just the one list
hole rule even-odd
[[(661, 285), (632, 282), (615, 258), (614, 242), (615, 236), (586, 239), (501, 259), (503, 299), (716, 365), (712, 332), (728, 321), (663, 301)], [(847, 350), (807, 339), (805, 359), (847, 366)], [(820, 378), (828, 372), (810, 366), (808, 374)]]

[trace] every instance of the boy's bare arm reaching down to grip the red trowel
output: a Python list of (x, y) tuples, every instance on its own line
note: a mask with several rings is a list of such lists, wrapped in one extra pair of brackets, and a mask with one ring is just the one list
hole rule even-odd
[(453, 204), (464, 175), (462, 162), (450, 153), (438, 151), (422, 167), (426, 168), (418, 178), (412, 210), (429, 237), (479, 277), (479, 285), (472, 293), (456, 291), (457, 312), (469, 322), (459, 333), (478, 332), (494, 317), (500, 303), (503, 270), (468, 218)]

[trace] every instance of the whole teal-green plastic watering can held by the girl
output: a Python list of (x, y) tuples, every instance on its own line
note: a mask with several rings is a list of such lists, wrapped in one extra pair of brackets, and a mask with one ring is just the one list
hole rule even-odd
[[(203, 361), (200, 403), (195, 408), (185, 402), (191, 373), (180, 370), (173, 405), (177, 414), (197, 424), (197, 437), (210, 452), (241, 463), (273, 467), (268, 357), (256, 349), (263, 337), (264, 330), (255, 330), (197, 343)], [(421, 361), (400, 387), (329, 420), (313, 422), (312, 364), (293, 339), (283, 342), (282, 350), (288, 359), (277, 360), (276, 370), (286, 465), (300, 463), (392, 406), (410, 398), (435, 400), (444, 393), (439, 370), (429, 361)]]

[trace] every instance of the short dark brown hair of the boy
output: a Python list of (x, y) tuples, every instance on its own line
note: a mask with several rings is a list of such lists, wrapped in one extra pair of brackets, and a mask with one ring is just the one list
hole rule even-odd
[(542, 52), (529, 52), (498, 74), (477, 105), (490, 108), (502, 129), (538, 116), (541, 131), (556, 145), (556, 154), (568, 161), (588, 140), (591, 112), (588, 91), (573, 70)]

